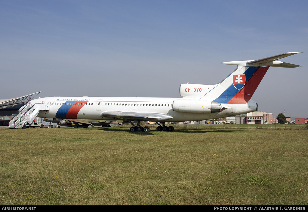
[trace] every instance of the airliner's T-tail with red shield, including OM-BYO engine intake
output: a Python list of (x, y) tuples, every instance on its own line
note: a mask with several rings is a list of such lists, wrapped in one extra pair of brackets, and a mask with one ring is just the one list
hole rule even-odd
[(237, 69), (216, 85), (182, 84), (180, 95), (187, 99), (206, 100), (219, 104), (246, 104), (270, 66), (299, 67), (278, 61), (298, 53), (300, 52), (288, 52), (259, 60), (223, 62), (222, 64), (237, 65)]

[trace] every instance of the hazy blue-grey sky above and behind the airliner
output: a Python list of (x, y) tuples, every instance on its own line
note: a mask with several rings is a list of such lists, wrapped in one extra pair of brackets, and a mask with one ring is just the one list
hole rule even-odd
[(216, 84), (236, 66), (285, 52), (259, 110), (308, 118), (306, 1), (0, 0), (0, 99), (180, 97), (181, 83)]

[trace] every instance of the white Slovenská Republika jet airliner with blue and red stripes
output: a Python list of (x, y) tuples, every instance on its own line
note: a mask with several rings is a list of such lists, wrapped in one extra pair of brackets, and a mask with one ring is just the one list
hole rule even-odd
[[(201, 121), (258, 110), (257, 103), (250, 99), (266, 71), (270, 66), (299, 67), (278, 61), (298, 53), (288, 52), (259, 60), (223, 62), (237, 65), (237, 69), (215, 85), (181, 84), (182, 98), (45, 97), (31, 100), (29, 107), (32, 110), (29, 110), (36, 110), (35, 116), (38, 114), (41, 118), (128, 121), (132, 124), (132, 132), (150, 131), (149, 127), (140, 126), (141, 121), (160, 122), (156, 130), (172, 131), (174, 128), (165, 126), (165, 122)], [(13, 125), (20, 126), (10, 122), (9, 127)], [(23, 123), (21, 125), (25, 127)]]

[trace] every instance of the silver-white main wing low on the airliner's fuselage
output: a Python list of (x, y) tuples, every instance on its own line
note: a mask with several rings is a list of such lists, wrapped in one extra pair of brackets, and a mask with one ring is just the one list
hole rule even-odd
[(121, 112), (107, 111), (103, 112), (102, 116), (114, 118), (116, 120), (132, 120), (132, 121), (165, 121), (173, 118), (170, 115), (160, 113), (138, 113), (138, 112)]

